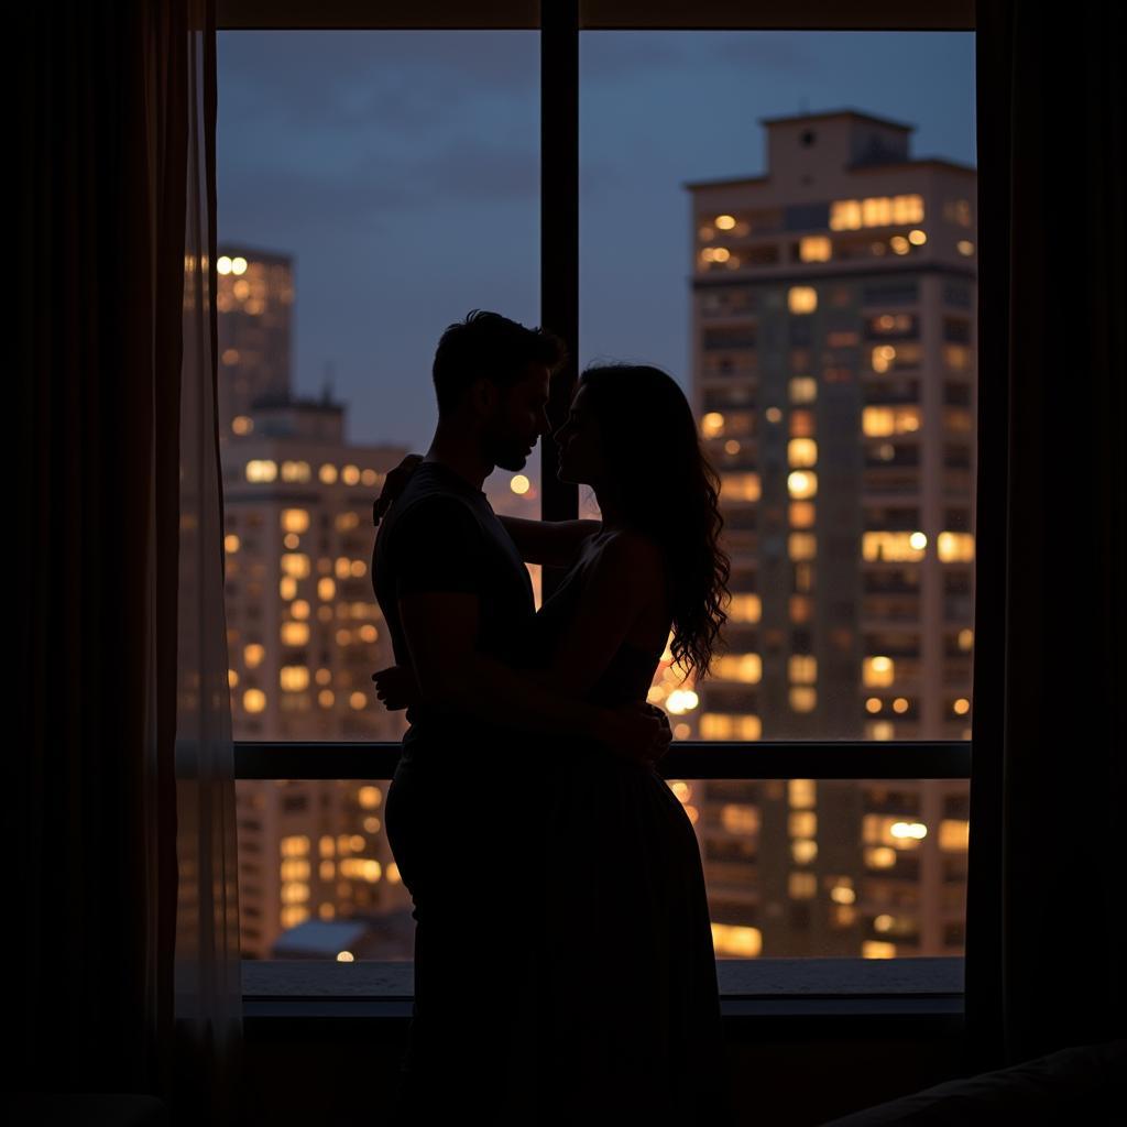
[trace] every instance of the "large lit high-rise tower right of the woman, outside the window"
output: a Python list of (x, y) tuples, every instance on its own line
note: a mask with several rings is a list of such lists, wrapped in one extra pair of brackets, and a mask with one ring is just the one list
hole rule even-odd
[[(689, 185), (733, 601), (682, 734), (969, 739), (975, 170), (853, 110), (763, 124), (764, 175)], [(961, 951), (965, 781), (693, 786), (718, 953)]]

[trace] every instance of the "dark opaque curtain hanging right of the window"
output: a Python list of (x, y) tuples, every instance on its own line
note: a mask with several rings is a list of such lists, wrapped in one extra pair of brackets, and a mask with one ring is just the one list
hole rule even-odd
[(977, 3), (973, 1071), (1127, 1031), (1125, 46)]

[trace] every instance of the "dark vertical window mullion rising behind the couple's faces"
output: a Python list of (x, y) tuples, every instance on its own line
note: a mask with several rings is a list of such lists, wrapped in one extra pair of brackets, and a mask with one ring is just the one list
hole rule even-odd
[[(568, 361), (552, 381), (553, 426), (567, 414), (579, 341), (579, 12), (578, 0), (541, 5), (540, 27), (540, 323), (567, 343)], [(540, 515), (575, 520), (579, 490), (556, 477), (556, 444), (540, 444)], [(559, 583), (544, 568), (543, 597)]]

